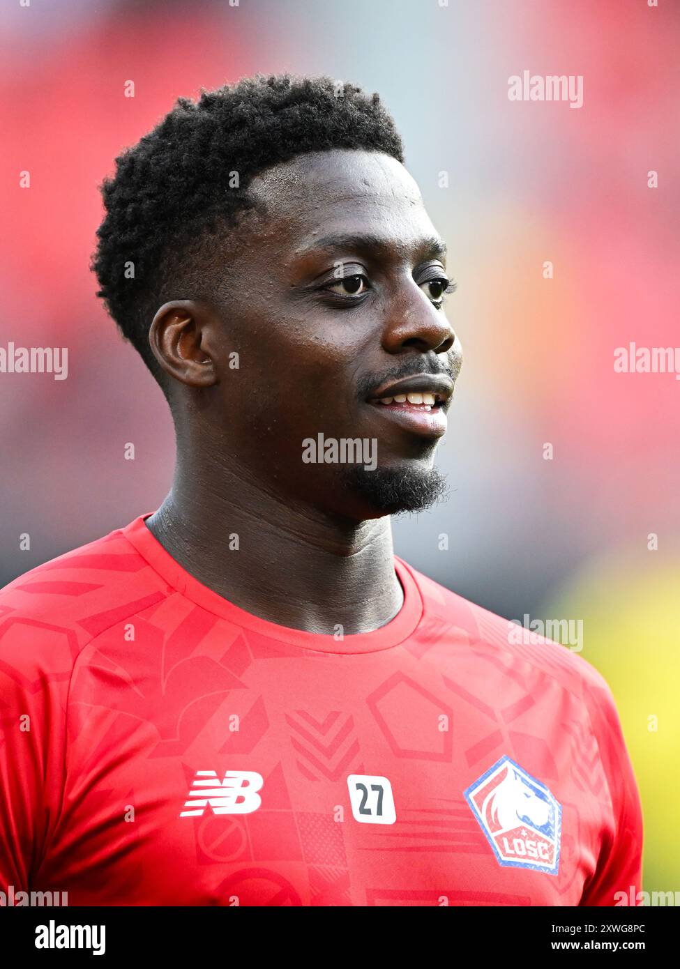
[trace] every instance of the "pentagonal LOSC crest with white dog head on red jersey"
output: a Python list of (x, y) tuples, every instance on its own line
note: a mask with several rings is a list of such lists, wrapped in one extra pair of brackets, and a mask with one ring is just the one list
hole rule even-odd
[(504, 756), (464, 792), (499, 864), (557, 875), (562, 805)]

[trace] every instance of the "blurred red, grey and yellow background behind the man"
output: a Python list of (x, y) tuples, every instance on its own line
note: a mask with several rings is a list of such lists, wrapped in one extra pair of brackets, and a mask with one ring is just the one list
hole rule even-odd
[[(243, 75), (378, 90), (448, 240), (466, 354), (440, 457), (451, 498), (396, 521), (397, 551), (510, 618), (584, 620), (643, 788), (645, 887), (674, 889), (680, 382), (613, 359), (630, 341), (680, 344), (680, 7), (69, 0), (1, 16), (0, 344), (65, 346), (69, 370), (0, 374), (0, 579), (151, 511), (170, 485), (165, 401), (88, 270), (114, 157), (179, 95)], [(510, 102), (524, 70), (582, 76), (583, 107)]]

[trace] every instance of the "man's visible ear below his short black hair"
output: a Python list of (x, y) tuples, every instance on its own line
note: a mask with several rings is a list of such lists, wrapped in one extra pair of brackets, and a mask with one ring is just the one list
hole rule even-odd
[(193, 299), (163, 303), (151, 321), (148, 342), (153, 356), (166, 373), (188, 387), (217, 383), (214, 361), (206, 346), (213, 323), (208, 308)]

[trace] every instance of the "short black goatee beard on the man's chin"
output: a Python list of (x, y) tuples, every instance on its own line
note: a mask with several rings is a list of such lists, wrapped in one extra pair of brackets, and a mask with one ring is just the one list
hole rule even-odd
[(340, 476), (343, 487), (368, 502), (376, 516), (422, 512), (448, 495), (446, 478), (436, 467), (367, 471), (363, 464), (350, 464), (341, 469)]

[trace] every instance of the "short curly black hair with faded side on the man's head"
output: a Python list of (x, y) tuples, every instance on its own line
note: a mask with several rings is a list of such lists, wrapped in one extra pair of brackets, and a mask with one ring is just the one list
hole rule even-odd
[(148, 328), (163, 302), (203, 295), (202, 243), (252, 207), (247, 187), (258, 172), (333, 148), (381, 151), (404, 162), (402, 140), (377, 94), (326, 77), (257, 75), (202, 89), (197, 102), (178, 98), (116, 158), (113, 178), (101, 187), (106, 215), (91, 268), (97, 296), (161, 387)]

